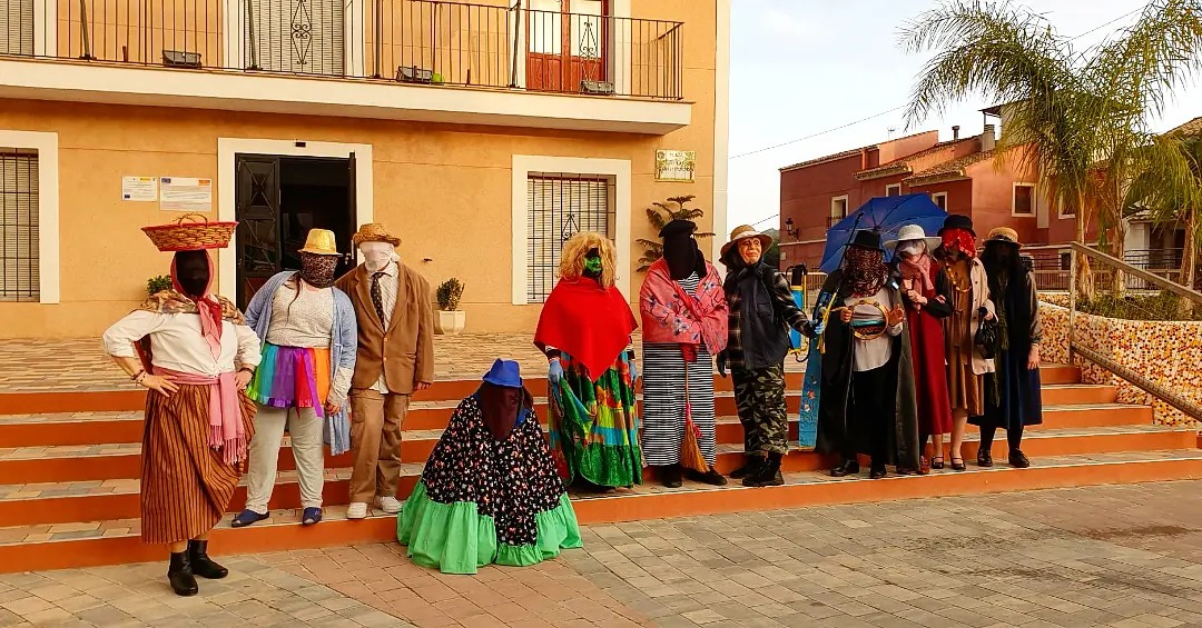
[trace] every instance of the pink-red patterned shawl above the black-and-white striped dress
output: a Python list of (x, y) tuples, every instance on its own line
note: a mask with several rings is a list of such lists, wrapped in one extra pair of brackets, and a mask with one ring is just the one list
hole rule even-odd
[(643, 342), (704, 343), (710, 355), (726, 348), (730, 307), (713, 264), (706, 264), (696, 294), (688, 294), (668, 274), (667, 262), (655, 262), (643, 281), (638, 309)]

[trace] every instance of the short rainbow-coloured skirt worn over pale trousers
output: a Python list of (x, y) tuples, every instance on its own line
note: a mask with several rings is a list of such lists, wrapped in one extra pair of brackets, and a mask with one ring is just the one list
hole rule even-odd
[(246, 388), (255, 402), (275, 408), (314, 408), (325, 417), (329, 396), (329, 349), (263, 343), (263, 360)]

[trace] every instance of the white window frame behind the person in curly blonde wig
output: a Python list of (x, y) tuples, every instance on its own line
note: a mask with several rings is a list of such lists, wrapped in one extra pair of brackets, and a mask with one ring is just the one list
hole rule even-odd
[[(583, 175), (612, 177), (614, 207), (614, 247), (618, 253), (618, 277), (615, 285), (629, 300), (630, 275), (633, 271), (630, 262), (630, 160), (607, 160), (590, 157), (549, 157), (540, 155), (513, 155), (511, 208), (511, 241), (513, 262), (511, 265), (511, 303), (530, 305), (528, 294), (529, 262), (529, 199), (526, 198), (528, 180), (531, 174), (572, 173)], [(538, 304), (541, 305), (541, 304)]]

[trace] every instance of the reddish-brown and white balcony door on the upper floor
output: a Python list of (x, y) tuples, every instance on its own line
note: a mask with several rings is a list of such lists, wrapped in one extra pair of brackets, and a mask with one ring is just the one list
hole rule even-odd
[(607, 0), (530, 0), (526, 13), (526, 89), (581, 91), (608, 80)]

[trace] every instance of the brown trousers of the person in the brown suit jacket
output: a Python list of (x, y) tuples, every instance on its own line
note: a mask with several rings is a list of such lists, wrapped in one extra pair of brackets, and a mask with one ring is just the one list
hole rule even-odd
[(400, 430), (409, 395), (351, 389), (351, 503), (395, 497), (400, 483)]

